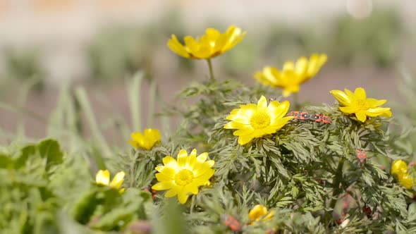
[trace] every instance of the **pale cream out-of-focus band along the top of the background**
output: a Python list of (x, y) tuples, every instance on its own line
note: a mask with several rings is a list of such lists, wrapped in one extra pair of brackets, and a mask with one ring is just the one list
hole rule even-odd
[(49, 80), (68, 80), (87, 73), (85, 44), (101, 27), (145, 25), (172, 8), (180, 10), (185, 30), (215, 19), (250, 31), (271, 20), (296, 27), (327, 23), (343, 13), (365, 18), (373, 6), (386, 4), (396, 6), (405, 23), (416, 19), (414, 0), (0, 0), (0, 47), (47, 44), (42, 63)]

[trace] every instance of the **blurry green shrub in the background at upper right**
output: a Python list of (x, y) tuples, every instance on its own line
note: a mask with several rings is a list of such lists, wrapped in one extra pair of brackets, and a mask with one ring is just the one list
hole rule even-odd
[(374, 9), (371, 16), (362, 20), (344, 16), (338, 19), (331, 55), (341, 63), (364, 58), (379, 67), (391, 66), (403, 31), (394, 8)]

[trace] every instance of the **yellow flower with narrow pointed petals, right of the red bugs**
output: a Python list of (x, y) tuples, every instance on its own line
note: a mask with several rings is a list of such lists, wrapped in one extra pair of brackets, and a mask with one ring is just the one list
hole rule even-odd
[(390, 108), (378, 107), (385, 104), (386, 100), (367, 98), (365, 90), (362, 87), (357, 87), (354, 93), (345, 89), (345, 92), (331, 90), (331, 94), (338, 100), (341, 105), (339, 109), (343, 113), (355, 113), (355, 117), (362, 123), (367, 120), (367, 116), (391, 117)]

